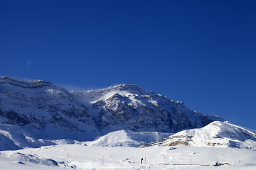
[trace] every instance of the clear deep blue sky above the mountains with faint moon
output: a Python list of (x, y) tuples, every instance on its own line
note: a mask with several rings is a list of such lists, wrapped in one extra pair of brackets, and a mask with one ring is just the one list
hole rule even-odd
[(256, 130), (256, 1), (0, 1), (0, 76), (137, 84)]

